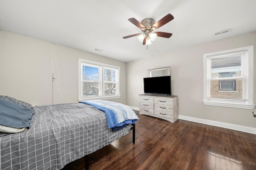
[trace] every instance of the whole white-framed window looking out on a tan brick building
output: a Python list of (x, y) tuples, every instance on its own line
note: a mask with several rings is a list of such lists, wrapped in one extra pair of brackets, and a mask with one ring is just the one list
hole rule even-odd
[(204, 54), (205, 105), (253, 109), (253, 46)]

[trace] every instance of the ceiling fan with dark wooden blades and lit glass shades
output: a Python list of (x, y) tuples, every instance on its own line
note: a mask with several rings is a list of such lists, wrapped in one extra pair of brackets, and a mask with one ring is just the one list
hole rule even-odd
[(129, 18), (128, 21), (130, 21), (135, 26), (140, 28), (142, 33), (128, 35), (123, 38), (126, 39), (126, 38), (130, 38), (130, 37), (138, 36), (138, 40), (140, 42), (143, 42), (143, 45), (147, 45), (147, 49), (148, 49), (148, 45), (152, 44), (151, 41), (154, 41), (156, 39), (156, 37), (170, 38), (172, 36), (172, 33), (153, 32), (153, 31), (159, 27), (162, 27), (164, 24), (170, 22), (173, 19), (174, 19), (174, 17), (172, 16), (172, 14), (167, 14), (166, 16), (164, 16), (161, 20), (159, 20), (157, 22), (152, 18), (145, 18), (141, 22), (139, 22), (135, 18)]

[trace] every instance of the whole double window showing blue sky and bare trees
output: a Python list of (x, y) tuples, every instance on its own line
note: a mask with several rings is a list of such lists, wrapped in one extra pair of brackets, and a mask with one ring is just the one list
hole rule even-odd
[(120, 67), (78, 59), (78, 100), (120, 98)]

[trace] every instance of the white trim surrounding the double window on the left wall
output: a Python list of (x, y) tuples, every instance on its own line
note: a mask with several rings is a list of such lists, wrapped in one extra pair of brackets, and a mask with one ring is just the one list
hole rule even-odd
[[(82, 81), (81, 81), (82, 80), (82, 74), (81, 74), (82, 63), (117, 69), (118, 70), (118, 77), (117, 77), (118, 82), (117, 82), (116, 90), (118, 90), (119, 93), (117, 95), (104, 96), (102, 94), (102, 92), (99, 92), (100, 96), (82, 97), (81, 96), (81, 92), (82, 92)], [(103, 69), (100, 74), (102, 74), (101, 77), (103, 77)], [(100, 80), (100, 83), (102, 84), (102, 87), (103, 87), (103, 84), (104, 84), (103, 78), (102, 78), (102, 80)], [(116, 98), (120, 98), (120, 67), (113, 66), (110, 64), (104, 64), (104, 63), (98, 63), (98, 62), (94, 62), (94, 61), (84, 60), (84, 59), (78, 59), (78, 101), (80, 102), (80, 101), (93, 100), (93, 99), (108, 100), (108, 99), (116, 99)]]

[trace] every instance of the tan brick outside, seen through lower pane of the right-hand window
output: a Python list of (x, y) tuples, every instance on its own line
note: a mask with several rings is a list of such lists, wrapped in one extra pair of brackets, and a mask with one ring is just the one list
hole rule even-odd
[[(232, 81), (233, 82), (235, 81), (234, 84)], [(221, 89), (221, 88), (233, 88), (233, 85), (235, 90)], [(221, 86), (221, 88), (219, 86)], [(211, 80), (210, 81), (210, 98), (242, 99), (242, 79), (226, 80), (226, 81)]]

